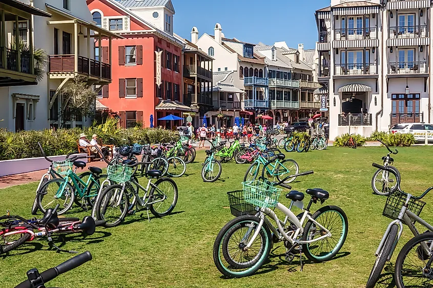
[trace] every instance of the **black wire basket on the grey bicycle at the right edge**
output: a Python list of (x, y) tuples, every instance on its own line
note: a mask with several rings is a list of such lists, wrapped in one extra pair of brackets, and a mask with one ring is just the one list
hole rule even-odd
[[(396, 220), (400, 214), (403, 204), (406, 203), (406, 198), (406, 194), (398, 191), (390, 194), (386, 199), (385, 207), (383, 208), (383, 216)], [(425, 202), (410, 198), (407, 209), (419, 216), (424, 205)]]

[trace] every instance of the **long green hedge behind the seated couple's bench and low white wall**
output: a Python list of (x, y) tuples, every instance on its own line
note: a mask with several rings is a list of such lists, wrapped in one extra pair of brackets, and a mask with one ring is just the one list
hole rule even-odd
[(102, 143), (116, 146), (136, 142), (141, 144), (170, 142), (178, 135), (177, 132), (159, 128), (117, 128), (117, 120), (111, 121), (110, 119), (104, 124), (83, 129), (57, 129), (55, 131), (46, 129), (16, 133), (0, 129), (0, 160), (42, 157), (37, 142), (40, 142), (47, 156), (64, 155), (76, 151), (77, 139), (81, 133), (85, 133), (89, 140), (93, 134), (96, 134)]

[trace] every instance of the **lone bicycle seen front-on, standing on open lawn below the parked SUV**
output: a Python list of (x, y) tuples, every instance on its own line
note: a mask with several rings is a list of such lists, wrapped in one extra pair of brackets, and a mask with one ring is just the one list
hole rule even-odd
[[(376, 141), (379, 141), (383, 144), (383, 146), (388, 149), (388, 153), (386, 156), (382, 157), (383, 160), (383, 166), (388, 167), (390, 169), (394, 169), (397, 176), (400, 179), (400, 172), (397, 170), (396, 167), (392, 166), (394, 164), (394, 158), (390, 157), (391, 154), (396, 155), (399, 151), (395, 149), (395, 151), (392, 151), (389, 149), (388, 145), (383, 143), (381, 140), (376, 139)], [(376, 185), (378, 187), (376, 187)], [(377, 169), (377, 171), (373, 174), (372, 178), (372, 188), (373, 191), (378, 195), (384, 195), (388, 196), (391, 189), (395, 189), (397, 186), (397, 180), (393, 178), (393, 174), (389, 174), (388, 171)]]

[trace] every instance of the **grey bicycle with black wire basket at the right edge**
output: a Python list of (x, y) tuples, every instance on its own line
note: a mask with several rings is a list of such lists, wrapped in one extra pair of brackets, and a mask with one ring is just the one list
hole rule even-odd
[[(422, 239), (422, 237), (419, 236), (420, 233), (418, 232), (418, 229), (415, 227), (416, 222), (418, 222), (419, 224), (427, 228), (428, 231), (430, 232), (433, 231), (433, 226), (431, 226), (424, 219), (419, 217), (425, 205), (425, 202), (422, 202), (420, 200), (430, 190), (433, 190), (433, 187), (430, 187), (427, 190), (425, 190), (424, 193), (421, 194), (421, 196), (418, 197), (413, 196), (401, 190), (400, 177), (397, 175), (396, 169), (391, 169), (389, 167), (378, 165), (376, 163), (373, 163), (372, 166), (381, 170), (385, 170), (389, 173), (393, 173), (396, 176), (397, 185), (395, 188), (392, 188), (390, 190), (390, 193), (386, 199), (385, 207), (383, 208), (382, 214), (388, 218), (391, 218), (393, 221), (391, 221), (391, 223), (386, 228), (385, 234), (383, 235), (382, 240), (379, 243), (379, 247), (376, 250), (375, 253), (376, 261), (373, 266), (372, 272), (370, 273), (370, 276), (368, 278), (366, 288), (372, 288), (375, 286), (377, 280), (380, 277), (380, 274), (382, 273), (386, 261), (389, 261), (393, 256), (397, 243), (400, 240), (401, 234), (403, 233), (403, 224), (406, 224), (409, 227), (409, 230), (414, 234), (414, 236), (416, 236), (415, 238), (417, 239), (414, 241), (410, 240), (408, 242), (408, 246), (413, 245), (414, 242), (419, 244), (420, 243), (419, 239)], [(405, 247), (406, 250), (402, 250), (400, 252), (398, 257), (398, 263), (396, 263), (395, 272), (396, 272), (396, 276), (398, 275), (398, 277), (395, 277), (395, 280), (399, 288), (404, 287), (404, 284), (402, 283), (403, 280), (401, 277), (401, 273), (402, 273), (402, 265), (404, 262), (404, 258), (407, 255), (405, 254), (407, 252), (407, 246)], [(428, 263), (431, 264), (431, 260), (433, 260), (433, 258), (431, 258), (431, 255), (433, 255), (431, 254), (431, 245), (428, 245), (428, 247), (427, 245), (422, 245), (422, 248), (420, 249), (419, 253), (420, 253), (419, 254), (420, 258), (424, 257), (422, 256), (424, 255), (423, 253), (426, 253), (425, 256), (428, 255), (428, 258), (430, 258)], [(424, 274), (422, 274), (422, 276), (424, 276)], [(429, 278), (429, 280), (431, 279), (432, 278)], [(423, 286), (423, 287), (427, 287), (427, 286)]]

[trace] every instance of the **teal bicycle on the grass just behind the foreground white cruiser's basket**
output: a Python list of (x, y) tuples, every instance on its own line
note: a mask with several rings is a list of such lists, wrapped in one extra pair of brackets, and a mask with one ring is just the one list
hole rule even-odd
[[(255, 181), (257, 180), (260, 171), (261, 165), (265, 165), (268, 162), (261, 154), (259, 154), (256, 161), (251, 164), (250, 168), (246, 171), (243, 181)], [(280, 182), (282, 179), (287, 178), (287, 176), (298, 174), (299, 165), (295, 160), (286, 159), (280, 162), (280, 159), (277, 159), (275, 163), (271, 163), (266, 166), (266, 174), (268, 178), (277, 178)], [(296, 177), (287, 178), (284, 183), (290, 183), (294, 181)]]

